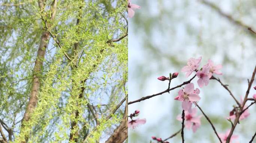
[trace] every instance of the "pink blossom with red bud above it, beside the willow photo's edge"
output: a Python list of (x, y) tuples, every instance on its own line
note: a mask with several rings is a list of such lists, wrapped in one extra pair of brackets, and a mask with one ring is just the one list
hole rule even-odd
[(128, 124), (127, 124), (128, 128), (134, 129), (138, 125), (146, 123), (146, 119), (145, 118), (144, 119), (137, 118), (135, 120), (132, 119), (133, 117), (138, 116), (139, 113), (140, 113), (140, 110), (135, 110), (134, 113), (132, 113), (132, 114), (130, 114), (128, 116), (128, 117), (131, 118), (131, 120), (128, 120)]

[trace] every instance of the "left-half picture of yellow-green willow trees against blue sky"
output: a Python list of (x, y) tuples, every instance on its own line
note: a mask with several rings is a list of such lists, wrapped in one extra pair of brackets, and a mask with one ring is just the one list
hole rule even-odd
[(0, 142), (127, 139), (127, 1), (0, 3)]

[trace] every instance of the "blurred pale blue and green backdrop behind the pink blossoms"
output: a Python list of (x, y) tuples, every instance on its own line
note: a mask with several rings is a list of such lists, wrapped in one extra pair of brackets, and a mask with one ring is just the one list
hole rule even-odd
[[(181, 69), (190, 57), (199, 56), (202, 56), (201, 66), (208, 59), (223, 65), (223, 75), (216, 77), (228, 84), (240, 101), (256, 64), (256, 35), (247, 30), (248, 26), (256, 29), (255, 0), (132, 0), (132, 3), (141, 9), (135, 10), (135, 16), (129, 19), (129, 101), (167, 89), (168, 82), (157, 80), (158, 76), (179, 72), (171, 87), (189, 80), (195, 73), (185, 78)], [(196, 80), (197, 77), (192, 82), (198, 88)], [(182, 112), (181, 103), (173, 100), (178, 90), (129, 105), (129, 114), (139, 109), (138, 117), (147, 119), (146, 124), (129, 129), (129, 143), (149, 143), (151, 136), (165, 139), (181, 128), (176, 120)], [(225, 133), (231, 128), (225, 118), (235, 101), (216, 80), (210, 80), (200, 90), (198, 104), (217, 132)], [(249, 97), (254, 93), (256, 90), (251, 89)], [(256, 105), (249, 112), (251, 115), (240, 121), (234, 131), (240, 143), (249, 142), (256, 131)], [(201, 114), (198, 110), (198, 115)], [(185, 142), (218, 142), (208, 121), (202, 117), (201, 122), (196, 133), (185, 129)], [(182, 142), (180, 134), (168, 141)]]

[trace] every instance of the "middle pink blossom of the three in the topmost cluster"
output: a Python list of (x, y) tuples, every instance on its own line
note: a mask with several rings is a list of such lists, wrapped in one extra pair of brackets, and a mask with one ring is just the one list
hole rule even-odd
[(198, 86), (202, 88), (204, 85), (207, 86), (209, 83), (209, 72), (210, 72), (210, 67), (208, 64), (204, 65), (202, 67), (202, 70), (198, 70), (196, 72), (196, 76), (199, 78), (197, 80)]

